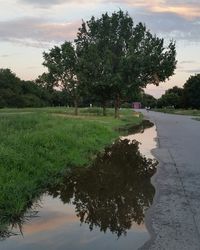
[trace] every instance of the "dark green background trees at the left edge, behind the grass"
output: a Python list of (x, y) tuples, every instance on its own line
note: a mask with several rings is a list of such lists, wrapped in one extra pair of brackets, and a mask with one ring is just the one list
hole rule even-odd
[(0, 107), (65, 105), (69, 97), (64, 92), (47, 88), (44, 80), (42, 81), (44, 76), (47, 75), (44, 73), (36, 81), (23, 81), (10, 69), (0, 69)]

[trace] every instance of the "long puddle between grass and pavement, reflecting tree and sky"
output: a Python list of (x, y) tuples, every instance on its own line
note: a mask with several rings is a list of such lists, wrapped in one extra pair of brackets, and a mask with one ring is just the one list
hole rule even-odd
[(155, 127), (141, 132), (116, 141), (92, 166), (69, 169), (26, 214), (23, 235), (18, 226), (10, 228), (13, 235), (4, 237), (0, 249), (141, 247), (149, 239), (144, 215), (153, 201), (156, 167), (150, 153)]

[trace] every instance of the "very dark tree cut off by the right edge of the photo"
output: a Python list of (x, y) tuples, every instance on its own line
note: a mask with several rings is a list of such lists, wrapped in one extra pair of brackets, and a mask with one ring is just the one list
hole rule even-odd
[(183, 88), (186, 107), (200, 108), (200, 74), (190, 76)]

